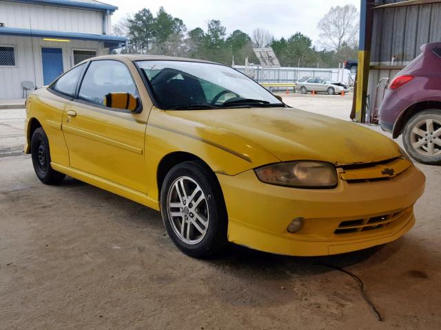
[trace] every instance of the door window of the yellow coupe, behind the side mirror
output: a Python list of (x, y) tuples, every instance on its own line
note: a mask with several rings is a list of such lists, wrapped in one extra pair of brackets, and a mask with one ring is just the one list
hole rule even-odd
[(129, 69), (118, 61), (92, 61), (84, 75), (78, 97), (104, 105), (107, 94), (118, 92), (139, 97)]

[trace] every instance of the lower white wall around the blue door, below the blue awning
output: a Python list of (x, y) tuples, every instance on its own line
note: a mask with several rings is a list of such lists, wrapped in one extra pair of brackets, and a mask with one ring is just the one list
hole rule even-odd
[(37, 87), (43, 86), (41, 47), (58, 47), (63, 50), (64, 71), (73, 66), (73, 50), (96, 50), (96, 56), (110, 53), (98, 41), (72, 40), (70, 43), (61, 43), (24, 36), (0, 36), (0, 45), (12, 45), (17, 49), (16, 66), (0, 67), (0, 98), (21, 98), (21, 82), (24, 80), (34, 81)]

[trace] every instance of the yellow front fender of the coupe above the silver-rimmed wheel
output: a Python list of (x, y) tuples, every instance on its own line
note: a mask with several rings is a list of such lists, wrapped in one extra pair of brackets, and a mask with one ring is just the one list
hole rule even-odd
[(170, 153), (191, 153), (203, 159), (215, 173), (225, 175), (237, 175), (258, 166), (280, 162), (276, 156), (243, 137), (156, 108), (150, 113), (145, 141), (148, 195), (151, 198), (157, 198), (158, 164)]

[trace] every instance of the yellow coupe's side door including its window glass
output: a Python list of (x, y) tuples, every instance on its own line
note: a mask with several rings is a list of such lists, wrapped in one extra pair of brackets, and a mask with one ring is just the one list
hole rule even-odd
[(147, 193), (143, 113), (104, 106), (108, 93), (139, 97), (124, 63), (92, 61), (85, 72), (78, 98), (63, 114), (63, 133), (70, 167)]

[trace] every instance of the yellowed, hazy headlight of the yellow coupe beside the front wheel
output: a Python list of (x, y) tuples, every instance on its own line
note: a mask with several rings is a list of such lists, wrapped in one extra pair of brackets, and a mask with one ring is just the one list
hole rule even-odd
[(337, 172), (334, 165), (325, 162), (286, 162), (256, 168), (260, 181), (295, 188), (334, 188)]

